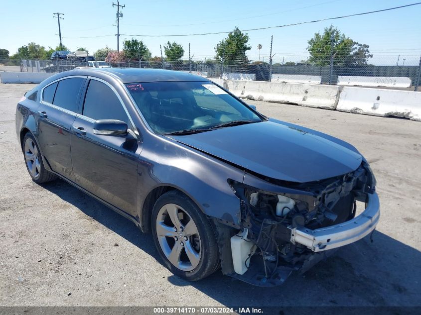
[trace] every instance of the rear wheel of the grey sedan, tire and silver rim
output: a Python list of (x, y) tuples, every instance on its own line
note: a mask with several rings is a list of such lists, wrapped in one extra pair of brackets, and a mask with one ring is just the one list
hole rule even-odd
[(45, 169), (41, 153), (39, 153), (38, 144), (30, 132), (27, 132), (23, 137), (22, 152), (25, 159), (26, 169), (35, 183), (46, 183), (57, 178), (54, 174)]

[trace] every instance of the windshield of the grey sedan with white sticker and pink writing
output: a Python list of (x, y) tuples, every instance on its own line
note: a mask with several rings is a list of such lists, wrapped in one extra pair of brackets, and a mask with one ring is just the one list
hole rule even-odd
[(262, 118), (211, 82), (127, 83), (146, 122), (158, 134), (189, 134)]

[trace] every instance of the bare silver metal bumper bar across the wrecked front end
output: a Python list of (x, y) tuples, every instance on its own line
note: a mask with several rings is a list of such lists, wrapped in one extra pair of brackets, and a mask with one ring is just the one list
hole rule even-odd
[(320, 252), (344, 246), (370, 234), (380, 217), (379, 197), (368, 194), (367, 208), (352, 220), (311, 230), (305, 227), (290, 227), (291, 243), (307, 246), (313, 252)]

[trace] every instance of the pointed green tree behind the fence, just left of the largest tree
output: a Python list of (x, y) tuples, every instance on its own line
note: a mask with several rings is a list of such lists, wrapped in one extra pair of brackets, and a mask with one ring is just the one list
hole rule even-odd
[(240, 31), (238, 27), (228, 34), (228, 37), (221, 40), (215, 49), (215, 59), (224, 57), (224, 64), (229, 66), (248, 64), (246, 51), (252, 47), (248, 45), (249, 35)]

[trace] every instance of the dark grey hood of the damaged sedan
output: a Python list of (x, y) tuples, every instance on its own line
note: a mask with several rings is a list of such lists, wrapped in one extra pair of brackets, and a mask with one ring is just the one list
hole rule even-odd
[(297, 183), (352, 172), (362, 161), (342, 140), (275, 119), (169, 137), (246, 171)]

